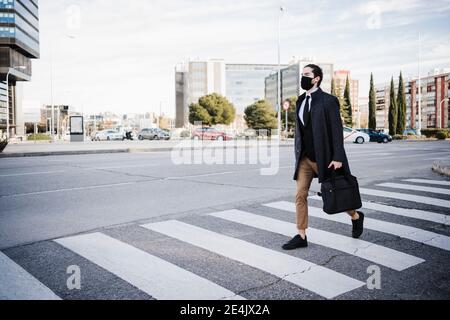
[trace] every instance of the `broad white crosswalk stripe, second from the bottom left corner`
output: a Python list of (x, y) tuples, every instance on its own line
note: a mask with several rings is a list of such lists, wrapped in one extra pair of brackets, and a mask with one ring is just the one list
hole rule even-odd
[(101, 233), (55, 241), (158, 300), (243, 299), (207, 279)]

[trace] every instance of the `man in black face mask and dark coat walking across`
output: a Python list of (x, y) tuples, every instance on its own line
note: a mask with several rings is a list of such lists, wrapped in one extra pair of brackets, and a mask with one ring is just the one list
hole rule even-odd
[[(303, 69), (302, 88), (306, 92), (297, 101), (295, 134), (295, 175), (297, 181), (296, 214), (298, 234), (283, 246), (284, 250), (306, 248), (308, 239), (308, 193), (311, 182), (327, 179), (330, 170), (351, 174), (344, 149), (339, 100), (322, 91), (322, 69), (310, 64)], [(353, 238), (364, 230), (364, 214), (347, 212), (353, 224)]]

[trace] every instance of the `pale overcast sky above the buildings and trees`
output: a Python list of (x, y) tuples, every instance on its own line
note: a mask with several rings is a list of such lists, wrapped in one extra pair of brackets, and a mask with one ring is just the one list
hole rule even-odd
[[(367, 96), (403, 70), (450, 67), (450, 0), (40, 0), (41, 59), (24, 99), (93, 113), (175, 114), (174, 67), (187, 58), (276, 63), (282, 4), (282, 62), (314, 56), (351, 70)], [(53, 49), (52, 49), (53, 48)], [(53, 54), (52, 54), (53, 52)]]

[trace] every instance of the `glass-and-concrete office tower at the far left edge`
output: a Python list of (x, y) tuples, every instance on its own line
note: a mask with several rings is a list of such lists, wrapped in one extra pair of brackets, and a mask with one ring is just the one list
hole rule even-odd
[(0, 131), (8, 121), (10, 136), (24, 134), (17, 82), (31, 80), (31, 59), (39, 58), (38, 11), (38, 0), (0, 1)]

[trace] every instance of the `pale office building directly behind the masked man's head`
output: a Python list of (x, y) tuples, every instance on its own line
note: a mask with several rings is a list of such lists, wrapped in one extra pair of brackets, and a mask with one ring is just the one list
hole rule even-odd
[[(313, 60), (292, 61), (287, 67), (281, 70), (281, 101), (303, 94), (301, 78), (303, 69), (314, 63)], [(331, 81), (333, 78), (332, 63), (316, 63), (323, 70), (323, 80), (321, 88), (323, 91), (331, 93)], [(265, 79), (265, 99), (275, 109), (278, 101), (278, 73), (272, 73)]]

